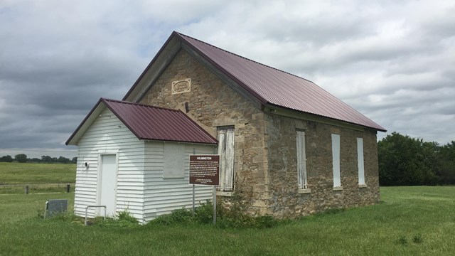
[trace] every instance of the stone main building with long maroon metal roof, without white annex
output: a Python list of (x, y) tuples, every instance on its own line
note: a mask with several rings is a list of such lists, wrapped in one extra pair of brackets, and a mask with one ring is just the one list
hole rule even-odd
[(293, 218), (380, 201), (379, 124), (296, 75), (173, 32), (124, 99), (218, 139), (217, 196)]

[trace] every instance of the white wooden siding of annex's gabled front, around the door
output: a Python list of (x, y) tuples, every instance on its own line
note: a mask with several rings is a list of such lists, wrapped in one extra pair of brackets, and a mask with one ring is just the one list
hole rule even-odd
[[(117, 151), (117, 212), (129, 210), (144, 218), (144, 142), (109, 110), (104, 110), (78, 142), (75, 187), (75, 214), (85, 215), (86, 206), (97, 204), (98, 157), (102, 152)], [(85, 168), (85, 162), (89, 168)], [(95, 209), (89, 209), (90, 217)]]

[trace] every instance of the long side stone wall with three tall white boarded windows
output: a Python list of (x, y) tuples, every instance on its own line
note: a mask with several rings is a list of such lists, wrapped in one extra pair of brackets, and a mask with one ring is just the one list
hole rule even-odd
[[(376, 132), (336, 127), (267, 114), (269, 156), (268, 213), (279, 218), (318, 213), (329, 208), (365, 206), (380, 201)], [(306, 134), (310, 193), (298, 192), (296, 129)], [(333, 191), (331, 134), (340, 134), (341, 186)], [(357, 138), (363, 138), (366, 187), (358, 186)]]

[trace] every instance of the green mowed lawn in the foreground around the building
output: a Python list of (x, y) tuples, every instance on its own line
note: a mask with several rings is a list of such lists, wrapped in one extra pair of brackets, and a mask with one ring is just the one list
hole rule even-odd
[(0, 255), (454, 255), (455, 187), (385, 187), (382, 203), (280, 223), (83, 226), (36, 217), (50, 198), (0, 195)]

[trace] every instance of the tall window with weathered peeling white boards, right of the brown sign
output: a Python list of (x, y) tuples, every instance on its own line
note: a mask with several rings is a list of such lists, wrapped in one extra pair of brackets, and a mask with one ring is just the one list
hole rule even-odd
[(232, 191), (234, 186), (234, 127), (218, 128), (220, 155), (220, 190)]

